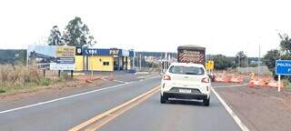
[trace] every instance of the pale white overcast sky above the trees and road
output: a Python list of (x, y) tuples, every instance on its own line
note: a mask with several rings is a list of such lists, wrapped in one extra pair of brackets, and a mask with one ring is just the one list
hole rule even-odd
[(287, 0), (9, 0), (0, 2), (0, 49), (45, 45), (54, 25), (75, 16), (89, 26), (96, 47), (176, 52), (206, 46), (207, 54), (258, 56), (291, 35)]

